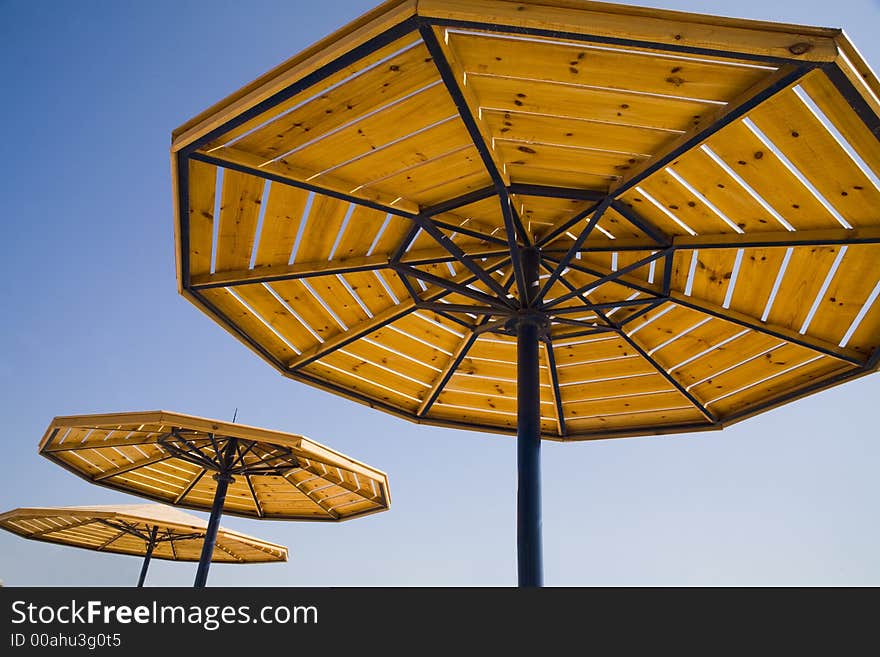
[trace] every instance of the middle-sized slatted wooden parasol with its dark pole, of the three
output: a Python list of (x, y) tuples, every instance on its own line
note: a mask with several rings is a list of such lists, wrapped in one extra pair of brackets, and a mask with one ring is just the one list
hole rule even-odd
[(223, 513), (340, 521), (385, 511), (385, 473), (303, 436), (149, 411), (56, 417), (40, 454), (101, 486), (210, 511), (196, 586)]

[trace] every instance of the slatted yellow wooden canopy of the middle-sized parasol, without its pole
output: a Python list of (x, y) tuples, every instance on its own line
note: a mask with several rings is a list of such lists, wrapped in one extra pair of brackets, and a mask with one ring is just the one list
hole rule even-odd
[[(234, 425), (233, 432), (226, 430), (224, 423), (214, 429), (201, 423), (193, 426), (187, 416), (137, 424), (125, 422), (124, 415), (113, 420), (121, 422), (107, 423), (101, 416), (56, 418), (41, 453), (95, 483), (186, 508), (210, 510), (216, 490), (213, 472), (173, 455), (160, 440), (174, 429), (185, 431), (196, 441), (209, 441), (213, 433), (218, 440), (231, 435), (245, 441), (244, 445), (250, 444), (248, 432), (237, 434)], [(208, 456), (216, 455), (209, 442), (198, 444)], [(284, 474), (236, 475), (229, 485), (224, 513), (279, 520), (341, 520), (388, 508), (383, 473), (308, 439), (288, 436), (285, 440), (281, 434), (274, 440), (257, 440), (244, 462), (259, 467), (258, 459), (284, 454), (288, 449), (298, 467)]]

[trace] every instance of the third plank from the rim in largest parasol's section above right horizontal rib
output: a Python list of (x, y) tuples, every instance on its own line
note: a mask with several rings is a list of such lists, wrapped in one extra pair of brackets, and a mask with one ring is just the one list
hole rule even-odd
[[(706, 144), (797, 230), (840, 227), (825, 206), (741, 121), (723, 128)], [(779, 226), (773, 230), (779, 230)]]

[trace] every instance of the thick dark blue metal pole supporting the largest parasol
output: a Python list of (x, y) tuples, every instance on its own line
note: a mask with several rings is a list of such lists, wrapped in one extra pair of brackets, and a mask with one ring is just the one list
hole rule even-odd
[[(529, 289), (521, 292), (530, 305), (539, 287), (539, 255), (523, 249), (524, 278)], [(519, 585), (542, 586), (541, 558), (541, 382), (538, 348), (543, 318), (524, 312), (517, 320), (517, 558)]]

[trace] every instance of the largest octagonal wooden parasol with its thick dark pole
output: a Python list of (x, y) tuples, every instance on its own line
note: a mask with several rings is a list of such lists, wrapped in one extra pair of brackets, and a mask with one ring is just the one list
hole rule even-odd
[(878, 114), (836, 29), (387, 2), (174, 132), (180, 291), (290, 378), (517, 433), (540, 583), (541, 436), (876, 371)]

